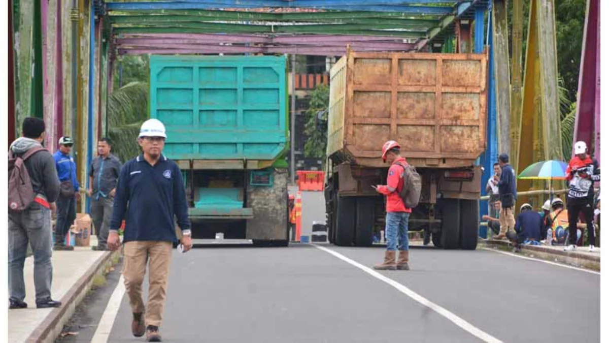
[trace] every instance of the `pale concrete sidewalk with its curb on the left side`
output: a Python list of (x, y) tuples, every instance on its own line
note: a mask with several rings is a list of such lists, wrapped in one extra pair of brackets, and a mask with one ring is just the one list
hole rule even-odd
[[(90, 244), (97, 238), (91, 236)], [(119, 251), (93, 251), (90, 247), (75, 247), (74, 251), (53, 251), (54, 300), (62, 301), (60, 308), (37, 309), (33, 283), (33, 257), (26, 258), (24, 278), (26, 282), (27, 309), (9, 309), (9, 342), (54, 342), (63, 325), (85, 297), (97, 275), (104, 275)]]

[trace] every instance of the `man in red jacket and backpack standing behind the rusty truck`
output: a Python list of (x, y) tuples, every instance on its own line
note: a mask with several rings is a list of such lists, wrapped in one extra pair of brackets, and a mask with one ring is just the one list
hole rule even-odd
[[(395, 140), (386, 142), (382, 147), (383, 162), (391, 165), (387, 173), (387, 185), (376, 186), (377, 192), (387, 196), (387, 217), (385, 218), (385, 237), (387, 251), (382, 264), (375, 265), (378, 270), (410, 270), (408, 265), (408, 218), (412, 208), (418, 204), (421, 195), (421, 178), (414, 168), (400, 156), (400, 144)], [(395, 252), (400, 250), (398, 262)]]

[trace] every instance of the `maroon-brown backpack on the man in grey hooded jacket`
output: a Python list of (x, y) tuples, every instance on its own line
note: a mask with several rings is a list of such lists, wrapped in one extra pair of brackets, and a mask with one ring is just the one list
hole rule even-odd
[(44, 148), (32, 148), (21, 157), (9, 151), (9, 211), (24, 211), (36, 197), (24, 162), (41, 150)]

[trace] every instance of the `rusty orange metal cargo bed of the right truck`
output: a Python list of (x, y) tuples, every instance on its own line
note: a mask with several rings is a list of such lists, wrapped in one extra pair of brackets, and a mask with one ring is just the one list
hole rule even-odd
[(335, 162), (382, 167), (390, 139), (417, 167), (473, 165), (486, 148), (486, 54), (350, 51), (330, 78)]

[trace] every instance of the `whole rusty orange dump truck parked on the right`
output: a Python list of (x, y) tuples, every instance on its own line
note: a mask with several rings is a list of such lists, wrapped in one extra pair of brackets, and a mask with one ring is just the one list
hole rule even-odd
[(417, 168), (423, 187), (409, 229), (437, 247), (477, 245), (486, 149), (487, 55), (348, 51), (330, 72), (326, 213), (331, 243), (373, 244), (384, 230), (381, 160), (387, 140)]

